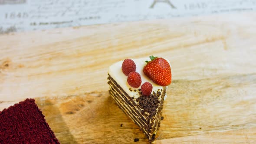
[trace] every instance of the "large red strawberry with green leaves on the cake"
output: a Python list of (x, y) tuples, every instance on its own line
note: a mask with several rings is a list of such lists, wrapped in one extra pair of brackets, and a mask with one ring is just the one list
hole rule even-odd
[(143, 72), (153, 82), (158, 85), (167, 86), (171, 84), (171, 66), (167, 60), (154, 56), (149, 57), (151, 61), (146, 61)]

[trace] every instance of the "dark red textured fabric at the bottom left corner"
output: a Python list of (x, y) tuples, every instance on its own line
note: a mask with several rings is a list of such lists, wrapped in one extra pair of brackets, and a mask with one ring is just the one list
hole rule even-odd
[(0, 144), (59, 144), (34, 99), (0, 111)]

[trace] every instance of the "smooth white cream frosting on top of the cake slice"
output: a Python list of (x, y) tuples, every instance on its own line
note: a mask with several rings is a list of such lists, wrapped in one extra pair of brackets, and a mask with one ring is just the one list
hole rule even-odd
[[(141, 75), (141, 85), (144, 84), (144, 82), (150, 82), (153, 86), (152, 92), (157, 92), (158, 89), (164, 89), (164, 86), (158, 85), (154, 82), (151, 81), (151, 79), (149, 79), (143, 72), (143, 68), (144, 66), (147, 64), (145, 61), (148, 60), (150, 61), (149, 58), (142, 58), (142, 59), (132, 59), (135, 64), (136, 64), (136, 72), (138, 72)], [(167, 62), (169, 62), (168, 59), (166, 59)], [(121, 60), (119, 62), (116, 62), (114, 64), (112, 64), (109, 69), (108, 69), (108, 74), (111, 75), (111, 77), (113, 79), (115, 79), (115, 81), (118, 83), (118, 85), (121, 86), (121, 88), (124, 89), (124, 91), (130, 96), (132, 97), (134, 95), (134, 98), (138, 98), (139, 94), (138, 94), (138, 89), (141, 88), (141, 85), (139, 88), (133, 88), (131, 87), (128, 82), (127, 82), (127, 77), (123, 72), (122, 72), (122, 63), (124, 62), (124, 60)], [(170, 62), (169, 62), (170, 63)], [(130, 89), (132, 91), (130, 91)], [(137, 90), (136, 92), (134, 90)], [(135, 101), (136, 102), (136, 101)]]

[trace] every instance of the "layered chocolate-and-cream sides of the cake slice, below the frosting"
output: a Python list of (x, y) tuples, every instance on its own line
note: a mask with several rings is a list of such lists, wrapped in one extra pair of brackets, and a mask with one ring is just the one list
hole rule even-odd
[(149, 137), (150, 141), (154, 141), (155, 133), (160, 126), (161, 113), (164, 102), (165, 88), (161, 92), (161, 101), (158, 105), (156, 115), (149, 117), (143, 109), (108, 75), (110, 85), (110, 94), (117, 102), (118, 106), (137, 124), (141, 131)]

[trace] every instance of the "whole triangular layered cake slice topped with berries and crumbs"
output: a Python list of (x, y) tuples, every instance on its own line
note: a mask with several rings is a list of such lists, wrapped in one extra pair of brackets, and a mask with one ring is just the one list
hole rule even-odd
[(160, 126), (166, 87), (171, 84), (169, 61), (125, 59), (108, 69), (110, 95), (118, 106), (154, 142)]

